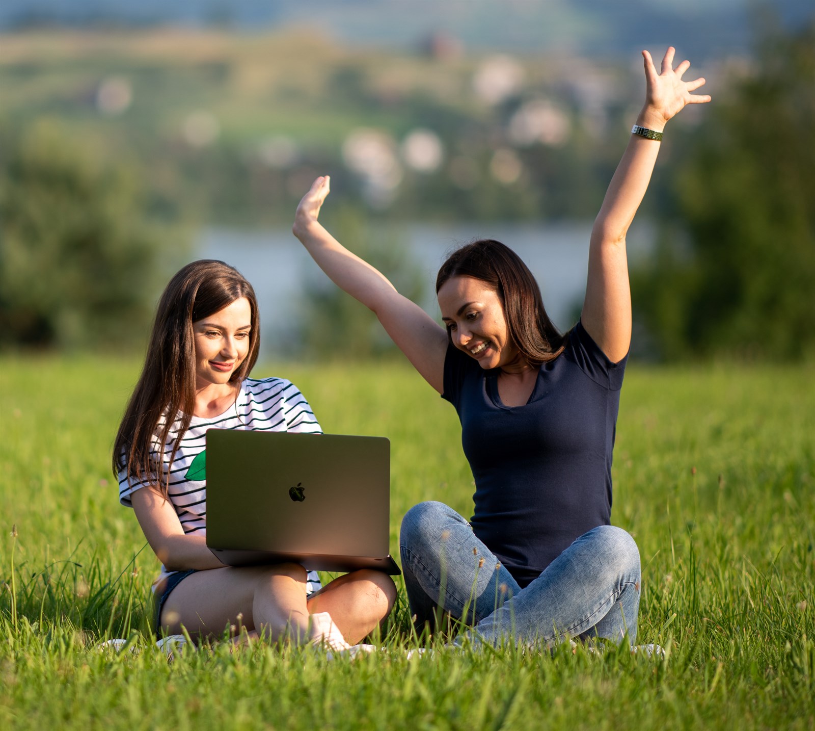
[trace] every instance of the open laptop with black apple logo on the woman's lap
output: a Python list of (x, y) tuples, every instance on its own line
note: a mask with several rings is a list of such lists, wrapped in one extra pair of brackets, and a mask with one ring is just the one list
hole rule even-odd
[(206, 500), (206, 544), (224, 564), (401, 573), (385, 437), (209, 429)]

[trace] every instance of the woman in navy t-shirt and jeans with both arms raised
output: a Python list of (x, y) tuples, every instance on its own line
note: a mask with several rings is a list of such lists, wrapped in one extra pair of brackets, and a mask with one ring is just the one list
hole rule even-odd
[(436, 609), (474, 642), (555, 645), (596, 636), (634, 643), (640, 556), (610, 525), (611, 455), (631, 339), (625, 237), (654, 169), (666, 122), (703, 78), (683, 82), (668, 48), (645, 61), (645, 105), (589, 244), (577, 325), (560, 334), (521, 259), (498, 241), (457, 250), (438, 272), (444, 327), (318, 221), (328, 177), (315, 180), (293, 231), (324, 272), (367, 305), (416, 370), (456, 407), (475, 478), (471, 521), (443, 503), (405, 516), (400, 549), (421, 627)]

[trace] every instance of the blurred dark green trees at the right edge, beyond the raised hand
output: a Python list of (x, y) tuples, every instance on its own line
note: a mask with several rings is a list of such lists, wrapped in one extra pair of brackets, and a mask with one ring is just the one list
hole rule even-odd
[(757, 51), (685, 140), (678, 210), (632, 277), (663, 357), (815, 353), (815, 24)]

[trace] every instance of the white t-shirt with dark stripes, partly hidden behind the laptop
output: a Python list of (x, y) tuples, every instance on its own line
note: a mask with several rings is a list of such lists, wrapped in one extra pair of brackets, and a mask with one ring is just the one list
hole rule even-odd
[[(176, 419), (180, 426), (181, 419)], [(159, 424), (159, 429), (163, 424)], [(178, 451), (170, 467), (167, 497), (178, 515), (185, 534), (206, 533), (206, 454), (205, 435), (209, 428), (246, 429), (250, 432), (300, 432), (321, 434), (322, 429), (308, 405), (306, 397), (286, 379), (245, 379), (240, 385), (236, 401), (223, 414), (214, 417), (193, 416), (187, 432), (181, 437)], [(168, 469), (173, 443), (178, 428), (170, 429), (165, 445), (164, 469)], [(157, 444), (154, 446), (154, 449)], [(158, 450), (155, 451), (156, 457)], [(149, 485), (149, 481), (136, 481), (119, 471), (119, 502), (133, 507), (130, 495)], [(161, 567), (161, 576), (174, 571)], [(319, 589), (319, 577), (309, 571), (306, 590)]]

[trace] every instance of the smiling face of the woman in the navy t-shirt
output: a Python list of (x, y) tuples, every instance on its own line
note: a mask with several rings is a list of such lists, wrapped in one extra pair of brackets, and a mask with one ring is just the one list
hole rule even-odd
[(438, 290), (438, 306), (453, 345), (485, 370), (526, 368), (509, 336), (504, 305), (496, 290), (474, 277), (451, 277)]

